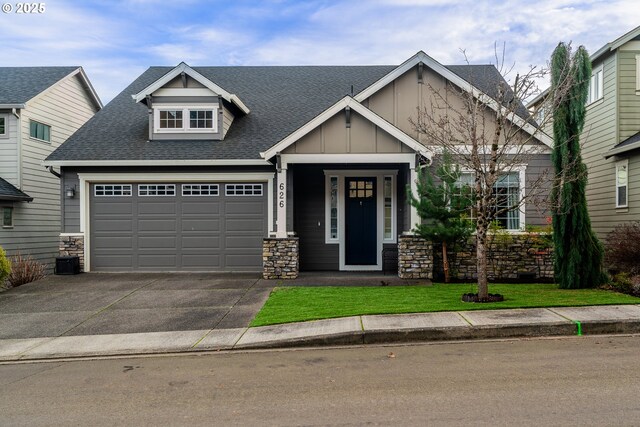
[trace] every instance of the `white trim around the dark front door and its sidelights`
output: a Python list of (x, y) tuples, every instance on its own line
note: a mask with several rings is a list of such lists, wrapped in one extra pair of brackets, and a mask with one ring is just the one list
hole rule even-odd
[[(378, 271), (382, 269), (382, 248), (385, 243), (397, 243), (397, 170), (325, 170), (325, 243), (339, 245), (339, 264), (341, 271)], [(376, 177), (376, 264), (375, 265), (347, 265), (346, 233), (345, 233), (345, 178)], [(391, 202), (391, 239), (384, 239), (384, 177), (390, 176), (393, 188)], [(330, 178), (338, 178), (338, 239), (327, 239), (331, 236), (331, 191)]]

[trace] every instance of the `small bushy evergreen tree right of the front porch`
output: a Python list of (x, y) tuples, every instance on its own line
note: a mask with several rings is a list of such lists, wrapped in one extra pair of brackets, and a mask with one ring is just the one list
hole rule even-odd
[[(445, 282), (449, 282), (448, 248), (471, 235), (473, 225), (467, 218), (471, 200), (469, 187), (459, 183), (460, 168), (453, 165), (451, 155), (444, 152), (441, 163), (418, 171), (417, 197), (407, 189), (409, 202), (422, 219), (415, 232), (433, 243), (442, 244)], [(438, 181), (437, 183), (435, 181)]]

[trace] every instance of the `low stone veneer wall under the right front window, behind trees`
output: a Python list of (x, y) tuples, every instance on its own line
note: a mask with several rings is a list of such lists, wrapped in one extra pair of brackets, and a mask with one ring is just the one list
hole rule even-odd
[[(491, 281), (553, 281), (551, 235), (544, 233), (500, 234), (489, 236), (488, 277)], [(434, 248), (434, 269), (442, 272), (442, 249)], [(449, 250), (449, 268), (453, 280), (475, 280), (475, 238), (455, 250)]]

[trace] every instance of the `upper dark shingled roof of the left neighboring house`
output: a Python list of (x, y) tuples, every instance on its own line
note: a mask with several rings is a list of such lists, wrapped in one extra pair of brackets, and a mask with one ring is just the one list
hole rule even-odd
[(80, 67), (0, 67), (0, 105), (25, 104)]

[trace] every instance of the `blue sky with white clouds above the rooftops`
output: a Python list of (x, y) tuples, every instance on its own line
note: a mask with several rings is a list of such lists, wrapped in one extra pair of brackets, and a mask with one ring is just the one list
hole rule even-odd
[(397, 65), (423, 50), (495, 64), (504, 46), (524, 71), (559, 41), (594, 53), (640, 25), (637, 0), (50, 0), (30, 14), (0, 3), (0, 66), (81, 65), (105, 104), (149, 66), (181, 61)]

